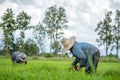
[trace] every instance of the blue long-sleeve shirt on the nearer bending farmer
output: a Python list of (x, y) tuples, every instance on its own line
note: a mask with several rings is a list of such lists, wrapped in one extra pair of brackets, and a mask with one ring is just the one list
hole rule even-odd
[(93, 56), (93, 54), (95, 54), (98, 51), (98, 48), (92, 44), (84, 42), (75, 42), (72, 47), (71, 53), (77, 59), (75, 59), (75, 61), (72, 64), (75, 65), (79, 61), (81, 66), (85, 66), (86, 68), (88, 68), (88, 55)]

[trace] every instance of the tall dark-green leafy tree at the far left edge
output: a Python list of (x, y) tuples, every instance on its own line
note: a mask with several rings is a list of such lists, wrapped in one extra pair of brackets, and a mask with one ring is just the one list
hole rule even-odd
[(13, 32), (16, 30), (16, 22), (12, 9), (7, 9), (1, 19), (2, 23), (0, 24), (0, 27), (4, 33), (4, 49), (6, 50), (7, 54), (10, 52), (10, 49), (13, 49)]

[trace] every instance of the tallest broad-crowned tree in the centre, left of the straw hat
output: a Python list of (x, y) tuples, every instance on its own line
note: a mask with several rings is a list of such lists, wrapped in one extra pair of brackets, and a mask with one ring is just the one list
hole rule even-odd
[(58, 53), (58, 40), (61, 38), (62, 30), (67, 28), (67, 16), (65, 14), (65, 9), (63, 7), (57, 8), (55, 6), (51, 6), (46, 10), (45, 17), (43, 19), (43, 23), (46, 24), (47, 34), (50, 38), (50, 52), (52, 48), (52, 44), (57, 43), (55, 46), (55, 53)]

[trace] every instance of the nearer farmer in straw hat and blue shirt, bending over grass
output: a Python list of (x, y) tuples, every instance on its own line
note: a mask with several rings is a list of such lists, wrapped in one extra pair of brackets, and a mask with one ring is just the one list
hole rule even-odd
[[(77, 42), (75, 36), (72, 36), (69, 39), (63, 38), (61, 43), (63, 45), (63, 52), (69, 50), (75, 57), (71, 68), (81, 71), (81, 69), (85, 67), (86, 73), (96, 71), (100, 58), (100, 52), (97, 47), (90, 43)], [(77, 63), (80, 63), (78, 67), (76, 66)]]

